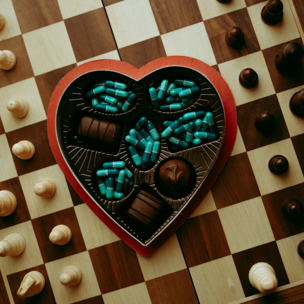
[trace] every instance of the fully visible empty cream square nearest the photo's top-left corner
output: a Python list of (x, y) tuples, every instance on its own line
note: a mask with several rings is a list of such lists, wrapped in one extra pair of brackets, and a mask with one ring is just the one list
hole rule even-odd
[(34, 75), (76, 63), (64, 21), (22, 35)]

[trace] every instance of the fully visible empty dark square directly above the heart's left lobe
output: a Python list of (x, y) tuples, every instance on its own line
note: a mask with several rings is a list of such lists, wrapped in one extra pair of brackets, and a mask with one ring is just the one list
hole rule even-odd
[(65, 19), (64, 22), (77, 61), (116, 50), (104, 8)]

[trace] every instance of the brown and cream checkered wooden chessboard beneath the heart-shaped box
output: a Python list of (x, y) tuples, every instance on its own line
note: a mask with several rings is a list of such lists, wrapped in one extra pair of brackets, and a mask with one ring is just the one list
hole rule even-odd
[[(276, 25), (261, 19), (267, 1), (230, 0), (2, 0), (5, 26), (0, 50), (11, 50), (16, 65), (0, 70), (0, 190), (11, 191), (16, 210), (0, 218), (0, 240), (19, 233), (26, 242), (18, 256), (0, 258), (0, 303), (303, 303), (304, 215), (285, 216), (282, 205), (304, 204), (304, 118), (289, 109), (291, 96), (304, 88), (299, 72), (284, 74), (275, 55), (287, 42), (303, 46), (301, 0), (282, 0)], [(230, 47), (226, 31), (242, 29), (244, 44)], [(92, 60), (122, 60), (139, 68), (171, 55), (199, 59), (229, 85), (237, 110), (237, 137), (219, 178), (185, 223), (152, 255), (143, 257), (119, 239), (83, 202), (65, 178), (50, 149), (47, 111), (59, 81)], [(258, 84), (244, 88), (239, 74), (253, 68)], [(6, 102), (24, 98), (29, 112), (13, 117)], [(270, 112), (275, 126), (262, 132), (257, 114)], [(28, 140), (28, 160), (12, 146)], [(284, 155), (284, 174), (268, 161)], [(54, 196), (37, 196), (43, 178), (57, 187)], [(49, 240), (54, 226), (70, 227), (65, 245)], [(278, 278), (264, 295), (249, 282), (257, 262), (270, 264)], [(75, 265), (81, 282), (65, 286), (61, 271)], [(21, 299), (17, 290), (29, 271), (45, 278), (43, 290)]]

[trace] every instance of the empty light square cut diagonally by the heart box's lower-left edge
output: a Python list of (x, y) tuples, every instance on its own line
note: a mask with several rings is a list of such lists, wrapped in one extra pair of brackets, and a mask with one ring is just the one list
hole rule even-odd
[[(85, 241), (85, 247), (88, 250), (120, 240), (87, 204), (75, 206), (74, 210)], [(90, 223), (90, 225), (88, 225), (88, 223)]]

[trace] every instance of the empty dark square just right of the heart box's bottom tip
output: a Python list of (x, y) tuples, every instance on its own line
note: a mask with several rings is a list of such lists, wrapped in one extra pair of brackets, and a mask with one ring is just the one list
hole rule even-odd
[(218, 212), (212, 211), (187, 219), (177, 231), (188, 267), (230, 254)]

